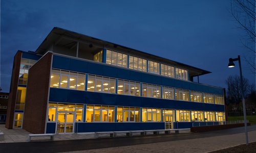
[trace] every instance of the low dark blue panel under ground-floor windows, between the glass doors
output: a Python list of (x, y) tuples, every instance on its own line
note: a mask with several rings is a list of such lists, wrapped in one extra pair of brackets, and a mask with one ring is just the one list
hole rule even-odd
[(113, 122), (113, 123), (76, 122), (75, 123), (75, 132), (161, 130), (164, 128), (165, 128), (164, 122)]

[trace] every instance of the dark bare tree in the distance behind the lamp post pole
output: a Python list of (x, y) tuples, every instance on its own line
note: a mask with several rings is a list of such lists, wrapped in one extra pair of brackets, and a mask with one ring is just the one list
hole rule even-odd
[(243, 89), (240, 86), (240, 77), (238, 75), (229, 75), (226, 80), (227, 84), (227, 95), (229, 103), (240, 103), (242, 100), (242, 90), (244, 95), (251, 93), (252, 85), (249, 85), (248, 79), (243, 78)]

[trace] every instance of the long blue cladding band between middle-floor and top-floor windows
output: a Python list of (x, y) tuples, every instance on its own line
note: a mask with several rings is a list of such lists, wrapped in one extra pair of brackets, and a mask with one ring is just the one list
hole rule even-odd
[(223, 88), (54, 55), (53, 68), (223, 95)]

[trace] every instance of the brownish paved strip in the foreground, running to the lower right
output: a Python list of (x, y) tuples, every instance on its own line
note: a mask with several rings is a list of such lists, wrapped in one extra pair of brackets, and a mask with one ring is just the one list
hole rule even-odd
[[(248, 132), (249, 142), (256, 141), (256, 131)], [(167, 141), (122, 147), (110, 147), (101, 149), (70, 151), (78, 152), (211, 152), (245, 143), (245, 134), (232, 134), (208, 138), (188, 139), (179, 141)]]

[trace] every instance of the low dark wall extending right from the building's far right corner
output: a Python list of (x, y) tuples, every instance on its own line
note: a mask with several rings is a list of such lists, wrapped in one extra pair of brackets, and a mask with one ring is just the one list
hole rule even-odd
[[(249, 126), (251, 125), (251, 123), (247, 123), (247, 125)], [(197, 126), (197, 127), (191, 127), (190, 132), (207, 132), (207, 131), (224, 130), (224, 129), (241, 127), (241, 126), (244, 126), (244, 123), (214, 125), (214, 126)]]

